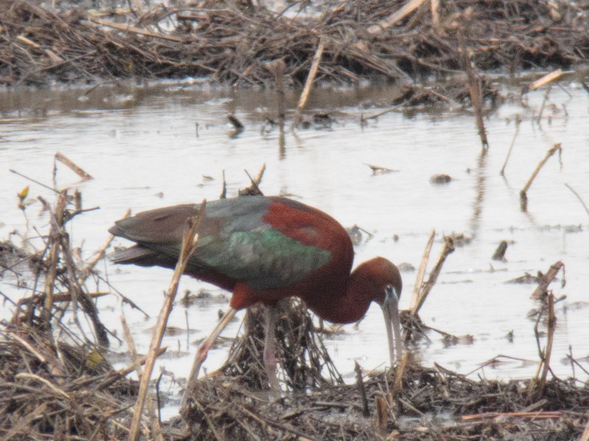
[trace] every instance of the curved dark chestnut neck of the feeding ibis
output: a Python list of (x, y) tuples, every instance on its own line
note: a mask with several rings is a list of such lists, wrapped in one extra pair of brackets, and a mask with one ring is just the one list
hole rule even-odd
[[(307, 306), (320, 318), (332, 323), (353, 323), (360, 320), (374, 299), (372, 284), (356, 271), (350, 274), (346, 286), (332, 292), (305, 298)], [(319, 293), (317, 293), (319, 294)]]

